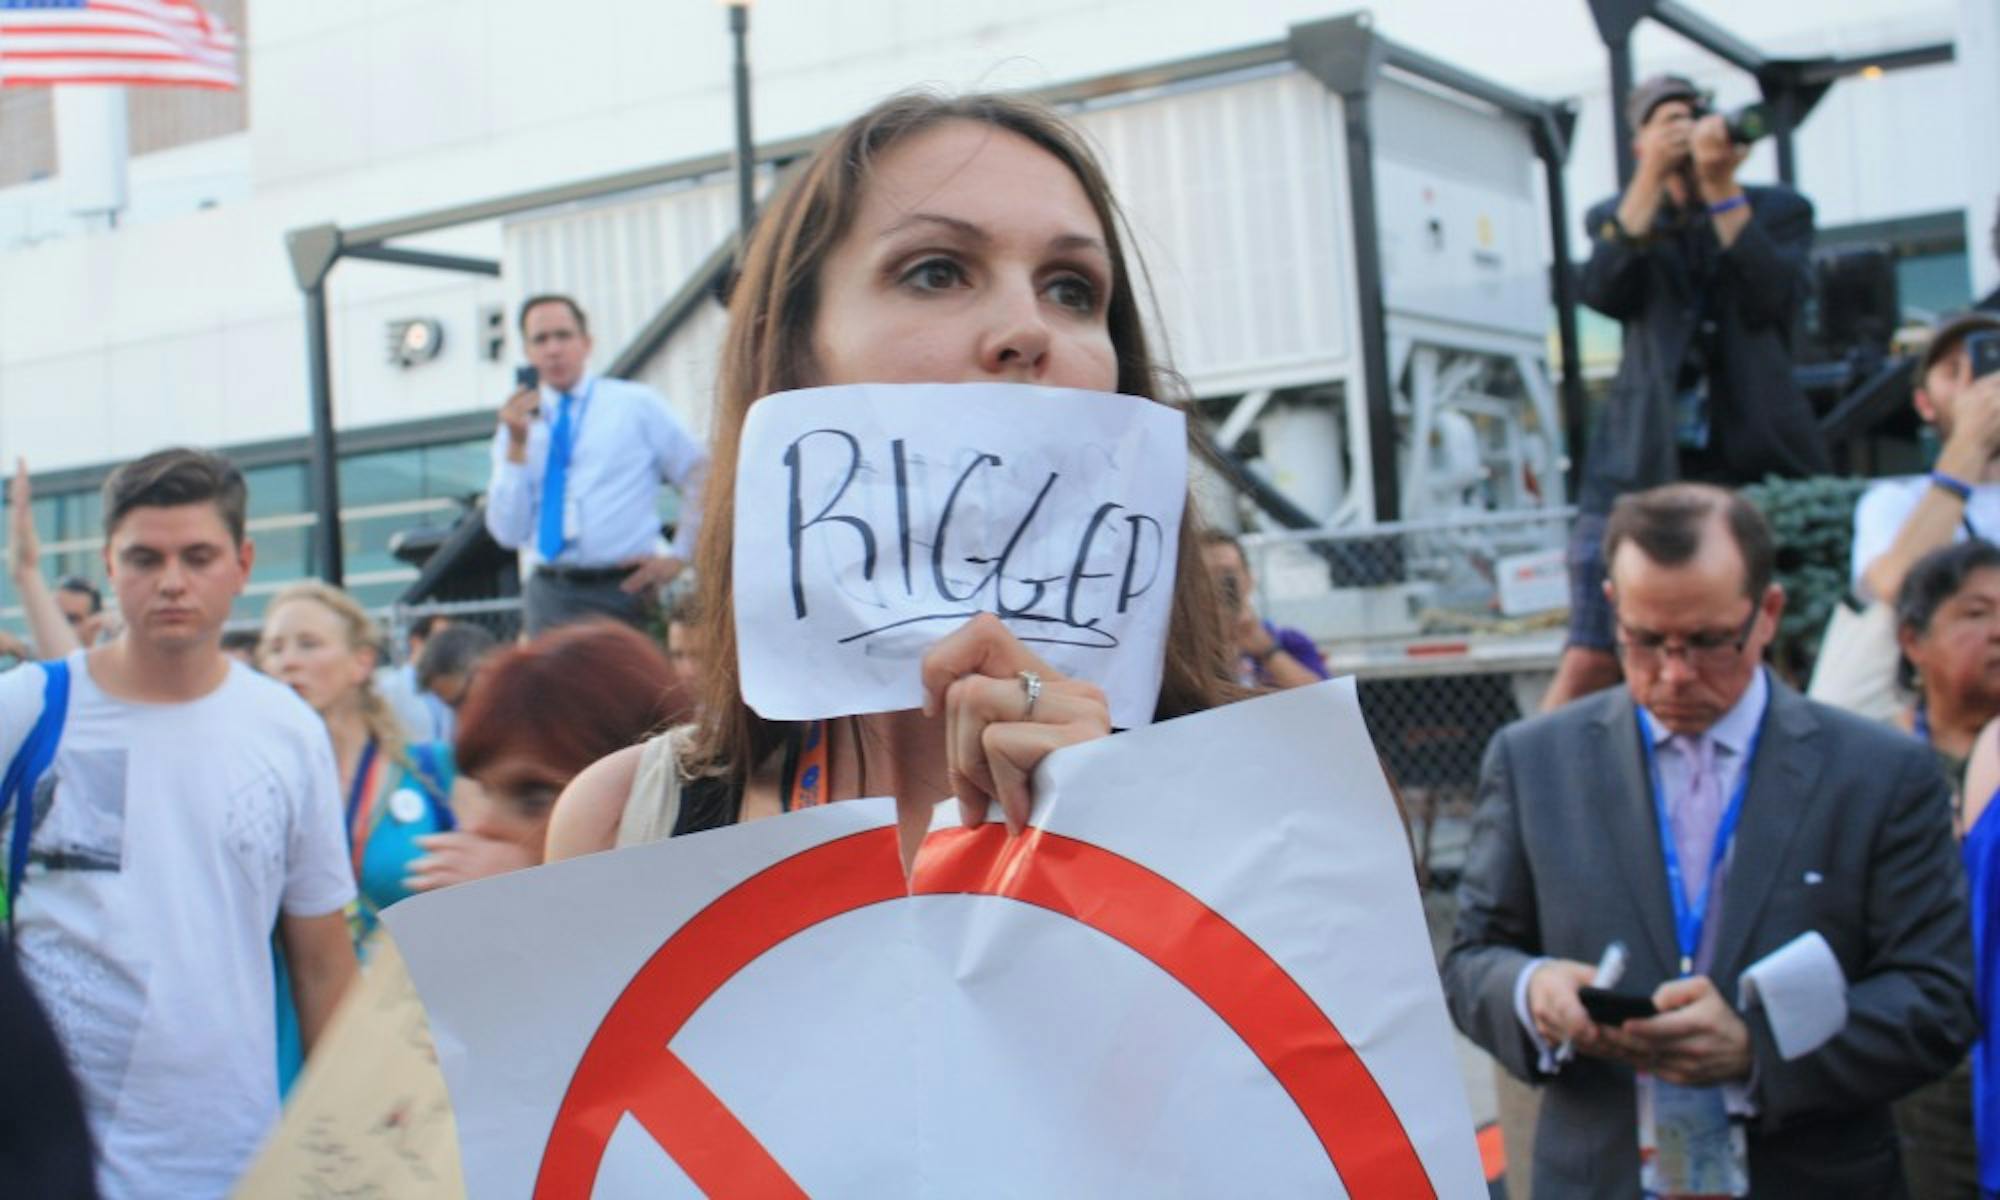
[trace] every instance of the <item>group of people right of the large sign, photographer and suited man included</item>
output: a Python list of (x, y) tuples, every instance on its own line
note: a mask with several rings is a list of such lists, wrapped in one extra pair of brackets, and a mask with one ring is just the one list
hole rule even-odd
[(1792, 370), (1812, 206), (1736, 182), (1688, 80), (1626, 116), (1636, 170), (1586, 218), (1580, 292), (1624, 352), (1570, 638), (1544, 714), (1488, 746), (1452, 1016), (1536, 1084), (1536, 1194), (2000, 1194), (2000, 374), (1970, 354), (2000, 318), (1930, 330), (1942, 450), (1860, 498), (1800, 696), (1764, 664), (1770, 524), (1732, 488), (1828, 474)]

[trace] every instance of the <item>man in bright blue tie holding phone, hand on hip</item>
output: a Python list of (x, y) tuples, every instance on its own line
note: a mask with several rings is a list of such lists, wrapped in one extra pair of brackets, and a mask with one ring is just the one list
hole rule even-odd
[[(576, 300), (530, 296), (520, 334), (540, 384), (500, 408), (486, 528), (534, 562), (528, 634), (588, 616), (644, 626), (694, 552), (708, 450), (652, 388), (590, 374)], [(660, 484), (682, 496), (672, 546), (660, 538)]]

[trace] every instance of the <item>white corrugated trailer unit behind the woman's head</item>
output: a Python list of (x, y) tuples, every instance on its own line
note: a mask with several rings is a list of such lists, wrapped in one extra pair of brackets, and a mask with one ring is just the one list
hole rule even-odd
[[(1564, 108), (1406, 52), (1364, 16), (1050, 100), (1104, 160), (1156, 344), (1206, 418), (1208, 518), (1308, 530), (1250, 542), (1274, 616), (1322, 642), (1406, 640), (1426, 614), (1490, 614), (1508, 554), (1560, 546)], [(696, 298), (644, 342), (714, 270), (732, 188), (710, 170), (520, 212), (504, 280), (590, 296), (600, 344), (642, 346), (636, 374), (704, 428), (720, 310)], [(1466, 520), (1494, 512), (1516, 518)]]

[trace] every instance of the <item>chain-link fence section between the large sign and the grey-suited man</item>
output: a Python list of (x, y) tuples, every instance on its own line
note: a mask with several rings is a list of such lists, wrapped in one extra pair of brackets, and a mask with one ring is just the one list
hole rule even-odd
[(1352, 674), (1426, 886), (1458, 880), (1480, 760), (1540, 708), (1568, 626), (1574, 510), (1288, 530), (1242, 540), (1258, 612)]

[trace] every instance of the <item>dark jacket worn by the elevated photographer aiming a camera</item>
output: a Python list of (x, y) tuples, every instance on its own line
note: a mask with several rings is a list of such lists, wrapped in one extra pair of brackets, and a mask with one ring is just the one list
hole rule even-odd
[[(1674, 442), (1674, 390), (1702, 296), (1716, 324), (1710, 346), (1710, 448), (1714, 482), (1830, 470), (1806, 394), (1792, 380), (1792, 324), (1808, 290), (1812, 204), (1790, 188), (1744, 188), (1750, 224), (1724, 250), (1714, 222), (1680, 220), (1662, 206), (1654, 238), (1634, 246), (1606, 236), (1618, 198), (1584, 218), (1590, 262), (1584, 304), (1624, 322), (1624, 360), (1584, 458), (1580, 504), (1606, 512), (1624, 492), (1682, 478)], [(1700, 280), (1708, 276), (1708, 286)]]

